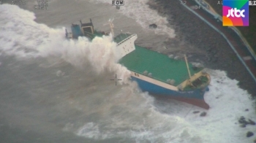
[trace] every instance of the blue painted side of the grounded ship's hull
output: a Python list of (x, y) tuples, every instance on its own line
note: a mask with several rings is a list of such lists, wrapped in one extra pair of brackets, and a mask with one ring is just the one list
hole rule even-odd
[(204, 109), (209, 109), (209, 105), (204, 101), (203, 95), (206, 91), (208, 91), (208, 87), (203, 89), (195, 89), (195, 90), (170, 90), (167, 88), (163, 88), (159, 85), (154, 85), (151, 82), (147, 82), (145, 80), (140, 80), (136, 77), (131, 77), (132, 80), (138, 82), (138, 85), (141, 90), (147, 91), (151, 95), (154, 96), (164, 96), (165, 98), (173, 98), (178, 101), (187, 102), (189, 104), (194, 104), (197, 107), (202, 107)]

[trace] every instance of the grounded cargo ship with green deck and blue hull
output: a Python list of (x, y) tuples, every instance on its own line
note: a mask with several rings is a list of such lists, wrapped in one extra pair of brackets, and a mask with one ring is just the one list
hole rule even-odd
[[(113, 34), (112, 23), (110, 28)], [(72, 33), (66, 30), (66, 37), (70, 39), (77, 39), (78, 36), (94, 39), (95, 36), (108, 35), (94, 30), (93, 23), (81, 21), (80, 25), (72, 24), (71, 30)], [(176, 60), (135, 45), (135, 39), (137, 34), (119, 34), (113, 40), (117, 43), (116, 50), (121, 53), (119, 63), (131, 71), (131, 79), (138, 82), (141, 90), (209, 109), (203, 96), (208, 91), (211, 78), (203, 68), (188, 63), (186, 56), (185, 61)]]

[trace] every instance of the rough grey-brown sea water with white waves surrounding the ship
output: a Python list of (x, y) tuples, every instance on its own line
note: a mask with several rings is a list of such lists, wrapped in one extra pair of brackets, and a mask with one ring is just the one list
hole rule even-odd
[[(67, 40), (64, 27), (92, 18), (95, 28), (138, 34), (138, 45), (164, 51), (172, 26), (143, 1), (117, 10), (109, 1), (48, 1), (48, 10), (0, 6), (0, 138), (2, 142), (252, 142), (238, 118), (255, 119), (250, 95), (225, 71), (208, 69), (205, 110), (157, 100), (129, 81), (111, 36)], [(148, 24), (157, 23), (152, 30)], [(171, 50), (171, 49), (170, 49)], [(122, 79), (115, 85), (110, 79)], [(249, 109), (245, 112), (245, 109)], [(206, 117), (192, 112), (207, 112)]]

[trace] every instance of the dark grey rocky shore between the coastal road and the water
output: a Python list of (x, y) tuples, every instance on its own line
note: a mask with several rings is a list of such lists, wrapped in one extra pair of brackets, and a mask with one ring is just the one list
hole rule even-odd
[[(193, 2), (193, 1), (192, 1)], [(190, 61), (203, 61), (206, 68), (227, 71), (227, 76), (239, 81), (238, 85), (256, 96), (256, 83), (238, 60), (227, 41), (203, 20), (189, 12), (180, 1), (151, 0), (151, 9), (164, 15), (176, 31), (177, 38), (184, 45), (196, 48), (197, 53), (183, 47), (181, 53), (191, 54)], [(184, 40), (184, 41), (183, 41)], [(165, 53), (170, 54), (170, 53)]]

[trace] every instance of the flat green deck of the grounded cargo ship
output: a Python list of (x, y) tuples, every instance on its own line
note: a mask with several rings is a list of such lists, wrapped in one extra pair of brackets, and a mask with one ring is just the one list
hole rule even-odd
[[(189, 79), (187, 65), (185, 61), (168, 58), (167, 55), (148, 50), (146, 48), (135, 45), (134, 51), (125, 55), (119, 63), (126, 66), (130, 71), (135, 71), (143, 74), (144, 71), (152, 74), (152, 77), (162, 82), (167, 82), (167, 79), (175, 80), (175, 86)], [(202, 68), (203, 69), (203, 68)], [(192, 64), (189, 63), (191, 76), (202, 70), (192, 69)]]

